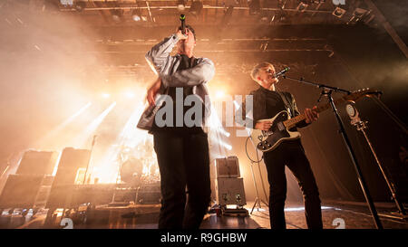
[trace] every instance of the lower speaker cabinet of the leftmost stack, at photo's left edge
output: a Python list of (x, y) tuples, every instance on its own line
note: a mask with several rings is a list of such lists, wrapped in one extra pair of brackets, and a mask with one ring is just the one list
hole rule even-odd
[(33, 208), (43, 175), (9, 175), (0, 195), (0, 208)]

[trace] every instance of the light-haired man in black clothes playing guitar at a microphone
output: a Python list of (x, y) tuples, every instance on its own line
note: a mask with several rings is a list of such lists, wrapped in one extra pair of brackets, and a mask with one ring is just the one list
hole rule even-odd
[[(277, 92), (275, 84), (278, 80), (275, 76), (275, 68), (268, 62), (257, 64), (251, 71), (251, 78), (260, 85), (259, 89), (250, 93), (253, 96), (253, 119), (255, 128), (268, 130), (271, 121), (259, 121), (259, 119), (271, 119), (282, 110), (287, 110), (292, 117), (299, 115), (296, 101), (290, 92)], [(238, 112), (246, 112), (245, 102)], [(318, 113), (316, 107), (305, 109), (306, 119), (296, 125), (296, 128), (304, 128), (316, 121)], [(246, 116), (236, 118), (239, 124)], [(247, 127), (248, 126), (247, 124)], [(253, 125), (250, 127), (253, 128)], [(291, 129), (293, 130), (293, 129)], [(300, 139), (282, 142), (276, 149), (264, 153), (264, 161), (267, 166), (267, 179), (269, 182), (269, 220), (272, 229), (285, 229), (285, 200), (287, 198), (287, 179), (285, 166), (296, 176), (296, 180), (302, 190), (305, 200), (305, 214), (307, 227), (311, 229), (323, 228), (320, 198), (316, 185), (315, 176), (310, 168)]]

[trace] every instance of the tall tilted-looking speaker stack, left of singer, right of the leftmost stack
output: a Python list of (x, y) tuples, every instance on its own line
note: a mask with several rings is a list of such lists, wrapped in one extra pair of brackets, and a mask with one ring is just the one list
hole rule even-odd
[(47, 208), (63, 208), (72, 204), (73, 185), (75, 181), (78, 182), (77, 176), (80, 174), (78, 171), (86, 169), (90, 155), (91, 151), (88, 149), (76, 149), (73, 147), (65, 147), (63, 149), (46, 204)]

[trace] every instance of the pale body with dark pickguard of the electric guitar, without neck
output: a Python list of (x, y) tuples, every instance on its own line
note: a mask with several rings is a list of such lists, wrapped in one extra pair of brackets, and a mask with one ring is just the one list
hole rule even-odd
[(259, 121), (271, 121), (272, 126), (268, 130), (253, 129), (251, 133), (252, 141), (257, 149), (262, 152), (271, 151), (279, 146), (280, 143), (286, 140), (300, 138), (300, 133), (297, 131), (289, 131), (284, 124), (284, 121), (290, 119), (290, 115), (286, 110), (282, 110), (272, 119), (261, 119)]

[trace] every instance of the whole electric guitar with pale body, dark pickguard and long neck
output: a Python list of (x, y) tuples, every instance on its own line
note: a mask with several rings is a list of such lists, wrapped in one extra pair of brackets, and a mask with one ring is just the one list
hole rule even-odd
[[(357, 90), (353, 93), (345, 95), (344, 97), (334, 100), (334, 103), (342, 103), (345, 101), (356, 101), (363, 97), (378, 96), (381, 92), (378, 90)], [(317, 107), (317, 112), (325, 111), (330, 108), (330, 103), (320, 105)], [(279, 146), (285, 140), (293, 140), (300, 138), (300, 133), (297, 131), (289, 131), (294, 128), (298, 122), (305, 120), (305, 114), (290, 118), (287, 110), (282, 110), (272, 119), (260, 119), (260, 121), (271, 121), (272, 126), (268, 130), (252, 129), (251, 138), (257, 149), (262, 152), (271, 151)]]

